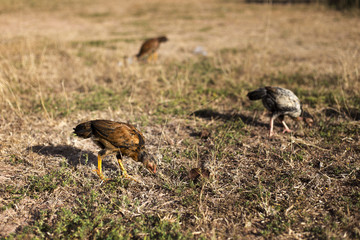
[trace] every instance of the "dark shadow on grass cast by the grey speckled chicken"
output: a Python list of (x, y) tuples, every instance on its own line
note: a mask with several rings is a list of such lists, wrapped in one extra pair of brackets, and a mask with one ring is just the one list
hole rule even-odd
[(256, 119), (246, 116), (244, 114), (238, 114), (238, 113), (219, 113), (216, 112), (212, 109), (201, 109), (201, 110), (197, 110), (193, 113), (191, 113), (190, 115), (194, 115), (196, 117), (200, 117), (200, 118), (205, 118), (205, 119), (219, 119), (222, 121), (236, 121), (238, 119), (241, 119), (241, 121), (243, 121), (243, 123), (247, 124), (247, 125), (252, 125), (252, 126), (261, 126), (261, 127), (267, 127), (268, 124), (266, 123), (262, 123), (257, 121)]

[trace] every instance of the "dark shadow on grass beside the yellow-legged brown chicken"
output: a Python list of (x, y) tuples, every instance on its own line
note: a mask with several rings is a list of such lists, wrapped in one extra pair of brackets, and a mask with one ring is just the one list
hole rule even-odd
[[(97, 156), (95, 156), (92, 152), (83, 151), (79, 148), (69, 145), (57, 145), (57, 146), (36, 145), (27, 148), (27, 150), (45, 156), (64, 157), (68, 161), (68, 164), (74, 167), (78, 165), (89, 165), (89, 164), (94, 164), (95, 166), (97, 166)], [(110, 161), (107, 160), (103, 161), (103, 169), (104, 168), (115, 169), (115, 167), (112, 164), (110, 164)]]

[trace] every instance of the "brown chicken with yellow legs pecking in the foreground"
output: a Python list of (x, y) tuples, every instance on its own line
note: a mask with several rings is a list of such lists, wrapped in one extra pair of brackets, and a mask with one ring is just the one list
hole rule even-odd
[(116, 154), (120, 169), (126, 178), (135, 180), (126, 172), (121, 161), (123, 156), (142, 162), (147, 169), (156, 173), (155, 159), (146, 152), (144, 136), (130, 124), (94, 120), (77, 125), (74, 128), (74, 133), (83, 138), (91, 137), (102, 149), (98, 153), (98, 169), (94, 170), (101, 179), (104, 179), (101, 168), (102, 158), (112, 154)]

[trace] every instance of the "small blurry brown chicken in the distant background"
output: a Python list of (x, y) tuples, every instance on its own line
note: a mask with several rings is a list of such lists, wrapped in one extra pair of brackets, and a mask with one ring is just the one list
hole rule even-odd
[(167, 37), (161, 36), (157, 38), (147, 39), (140, 48), (139, 53), (136, 55), (137, 59), (140, 61), (146, 60), (147, 62), (153, 59), (156, 61), (157, 53), (156, 50), (160, 47), (160, 43), (166, 42)]

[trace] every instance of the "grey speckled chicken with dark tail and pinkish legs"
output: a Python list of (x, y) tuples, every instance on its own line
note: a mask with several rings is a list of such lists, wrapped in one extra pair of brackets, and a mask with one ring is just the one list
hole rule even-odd
[(291, 132), (284, 121), (284, 116), (301, 121), (303, 120), (309, 126), (313, 120), (309, 113), (302, 110), (299, 98), (290, 90), (281, 87), (264, 87), (247, 94), (250, 100), (262, 100), (266, 109), (271, 112), (270, 119), (270, 137), (274, 135), (274, 120), (279, 118), (284, 125), (285, 132)]

